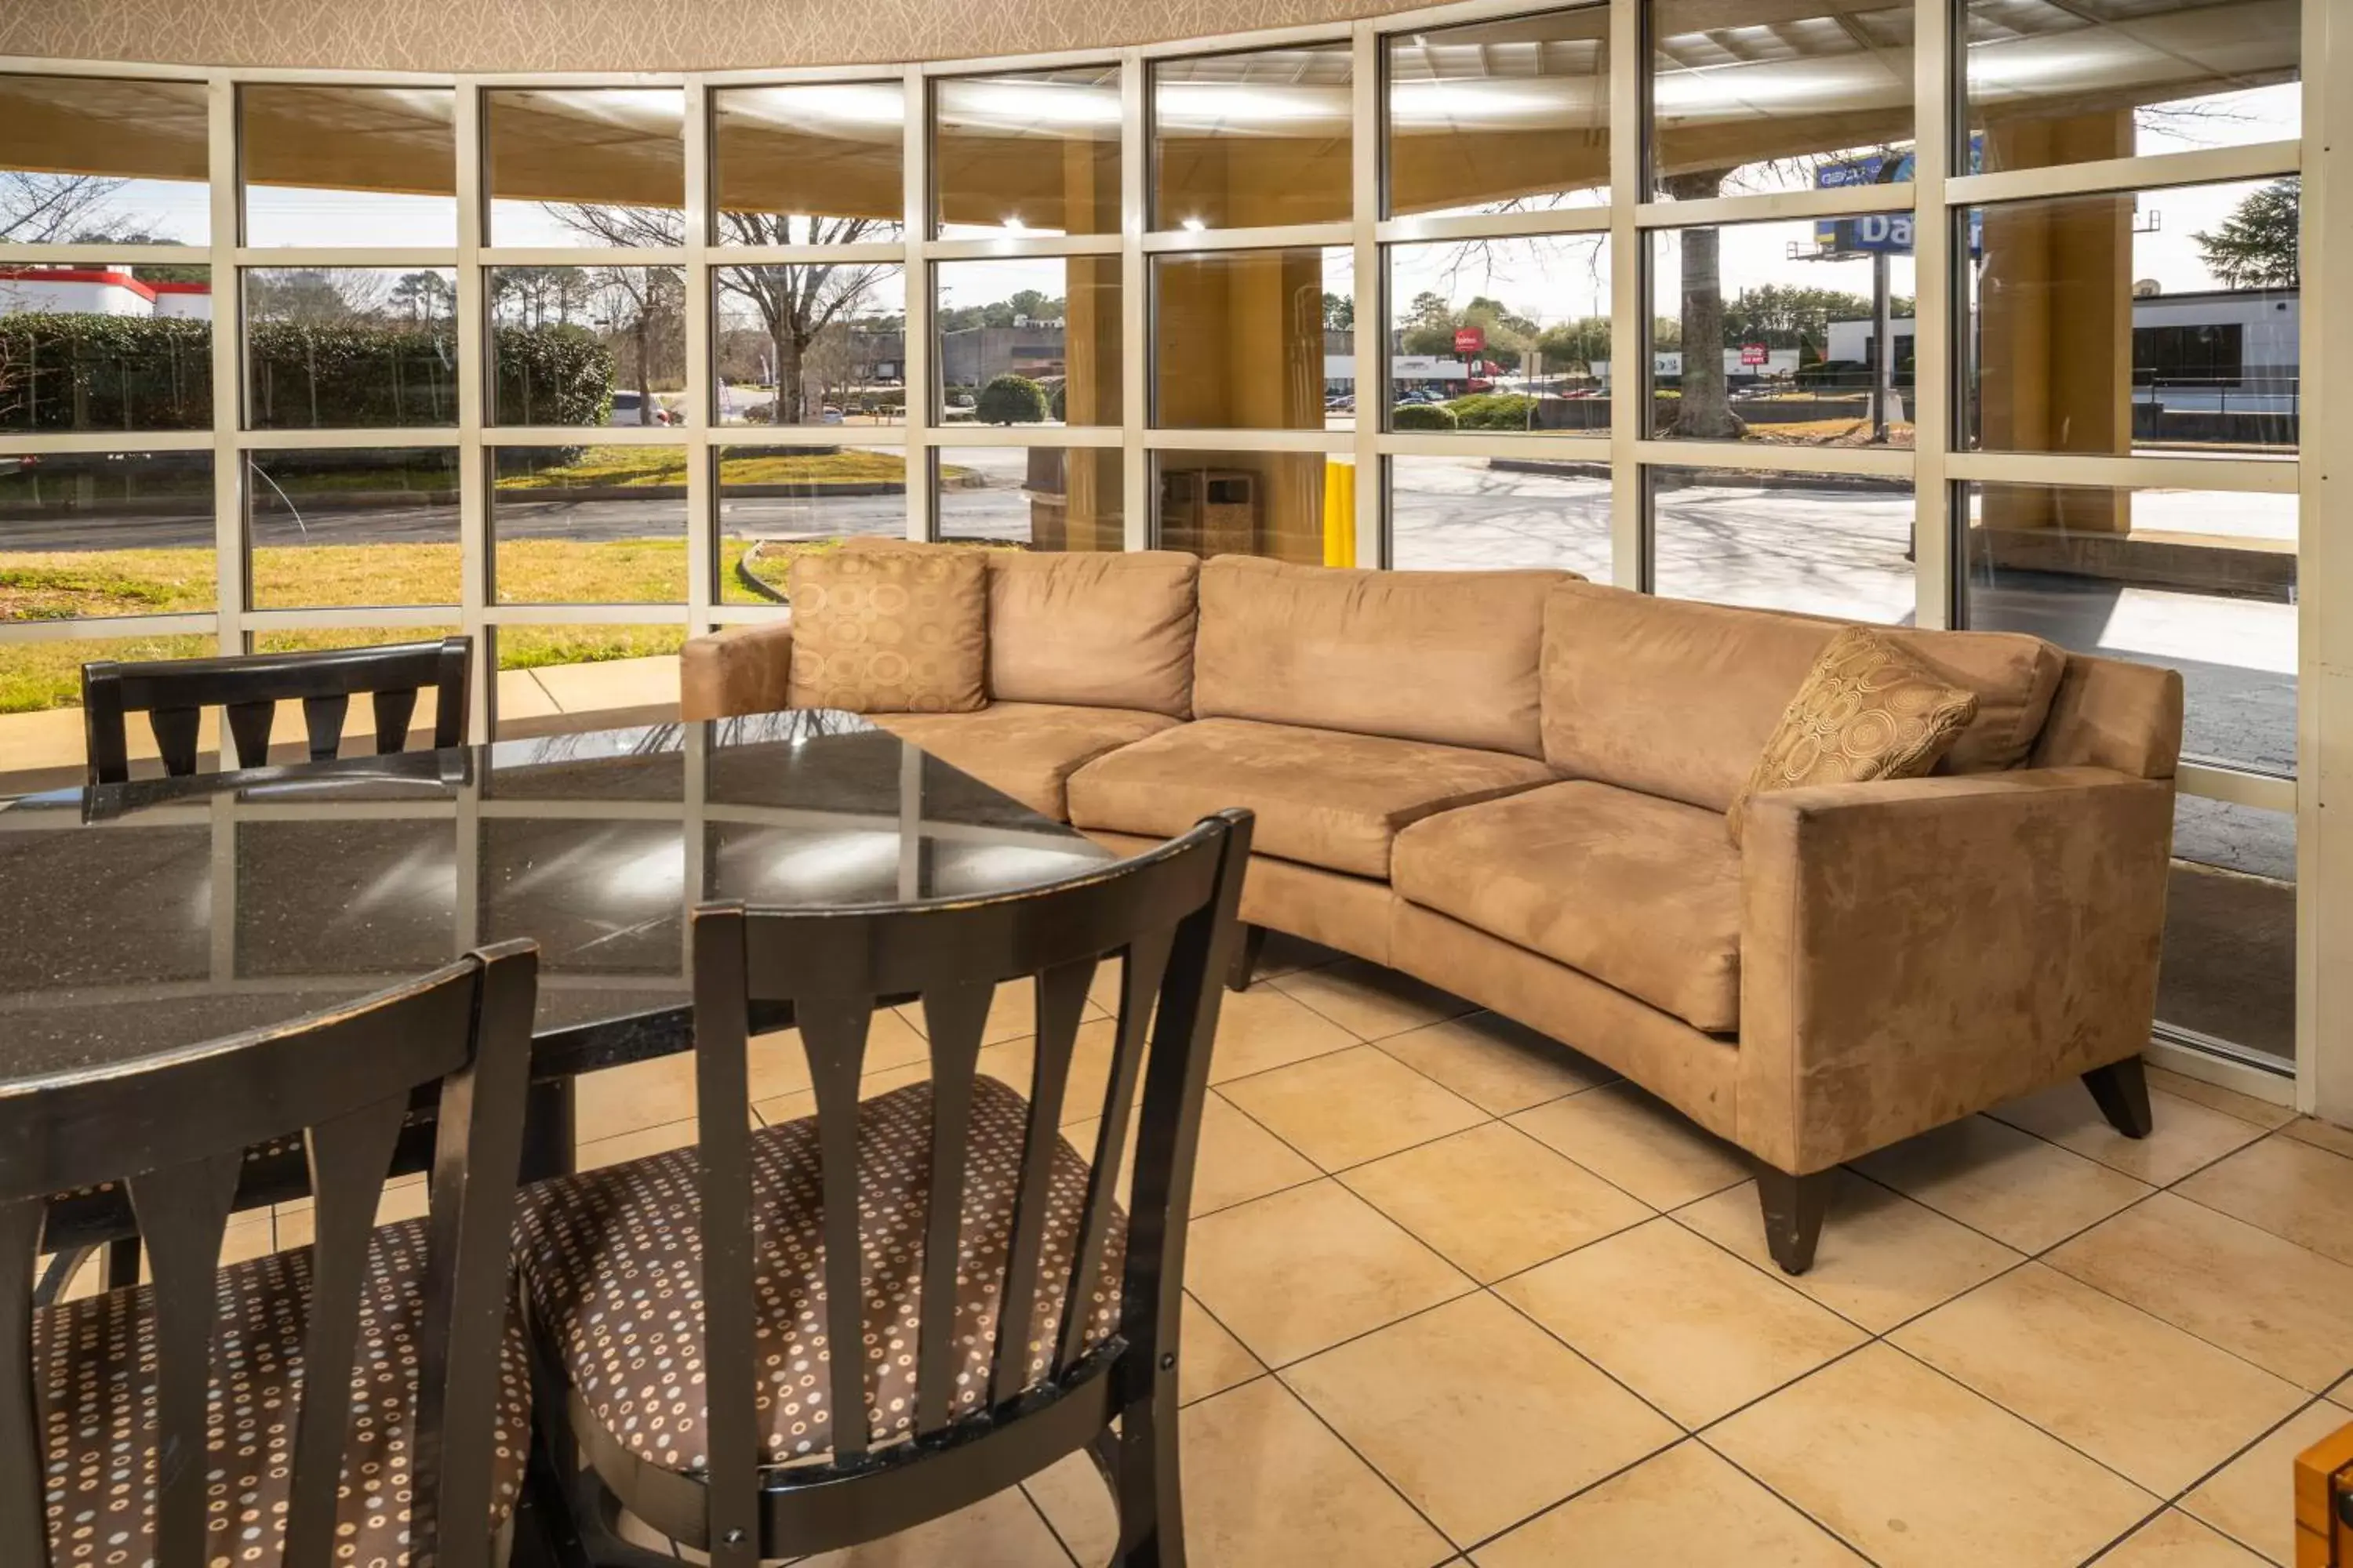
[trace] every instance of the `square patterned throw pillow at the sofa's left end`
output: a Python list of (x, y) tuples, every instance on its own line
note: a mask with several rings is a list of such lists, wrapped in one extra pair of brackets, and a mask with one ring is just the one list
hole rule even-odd
[(986, 703), (976, 550), (826, 550), (793, 562), (793, 708), (972, 712)]

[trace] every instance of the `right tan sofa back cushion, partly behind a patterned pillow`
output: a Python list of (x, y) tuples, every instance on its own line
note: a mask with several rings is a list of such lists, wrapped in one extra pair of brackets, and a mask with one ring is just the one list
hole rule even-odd
[[(1725, 811), (1842, 621), (1562, 583), (1544, 607), (1544, 759)], [(1941, 773), (2026, 762), (2066, 654), (2019, 632), (1880, 628), (1977, 693)]]

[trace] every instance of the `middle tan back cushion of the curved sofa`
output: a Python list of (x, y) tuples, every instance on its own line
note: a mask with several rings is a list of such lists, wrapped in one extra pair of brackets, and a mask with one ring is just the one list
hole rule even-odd
[(1544, 595), (1572, 581), (1219, 555), (1200, 569), (1193, 715), (1541, 757)]

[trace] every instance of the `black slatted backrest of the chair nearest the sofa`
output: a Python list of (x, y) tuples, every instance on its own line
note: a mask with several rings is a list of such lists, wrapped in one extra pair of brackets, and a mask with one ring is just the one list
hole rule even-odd
[[(859, 1072), (875, 1006), (918, 997), (932, 1053), (932, 1147), (922, 1215), (915, 1333), (915, 1453), (951, 1427), (965, 1347), (958, 1328), (958, 1229), (965, 1211), (972, 1084), (988, 1006), (1005, 980), (1028, 978), (1038, 1037), (1028, 1119), (1005, 1251), (995, 1345), (981, 1410), (962, 1420), (1002, 1429), (1052, 1401), (1085, 1368), (1125, 1387), (1153, 1385), (1176, 1349), (1193, 1154), (1217, 1034), (1221, 976), (1235, 943), (1252, 818), (1224, 811), (1134, 860), (1049, 889), (965, 903), (866, 910), (694, 912), (694, 1048), (701, 1126), (701, 1244), (708, 1392), (708, 1549), (715, 1568), (758, 1561), (760, 1439), (753, 1328), (753, 1204), (748, 1171), (748, 1006), (791, 1001), (816, 1091), (824, 1307), (828, 1347), (859, 1347)], [(1096, 966), (1120, 964), (1120, 1006), (1092, 1173), (1068, 1248), (1068, 1272), (1042, 1276), (1047, 1192), (1064, 1124), (1071, 1058)], [(1141, 1079), (1141, 1107), (1136, 1086)], [(1075, 1107), (1073, 1107), (1075, 1112)], [(1120, 1326), (1087, 1345), (1085, 1293), (1111, 1234), (1120, 1157), (1136, 1121)], [(1031, 1375), (1040, 1293), (1059, 1293), (1059, 1342)], [(1052, 1295), (1047, 1295), (1052, 1300)], [(1174, 1363), (1174, 1361), (1169, 1361)], [(873, 1472), (866, 1359), (833, 1354), (826, 1465), (769, 1472), (769, 1483), (826, 1488)], [(1014, 1403), (1019, 1401), (1019, 1413)], [(953, 1446), (951, 1446), (953, 1448)], [(840, 1490), (840, 1486), (833, 1486)], [(913, 1521), (908, 1521), (913, 1523)], [(896, 1523), (887, 1528), (899, 1528)]]

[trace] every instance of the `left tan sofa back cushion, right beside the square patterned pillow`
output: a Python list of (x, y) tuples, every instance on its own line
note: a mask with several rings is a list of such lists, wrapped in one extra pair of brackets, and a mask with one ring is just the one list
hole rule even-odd
[(1200, 559), (988, 550), (988, 696), (1193, 717)]

